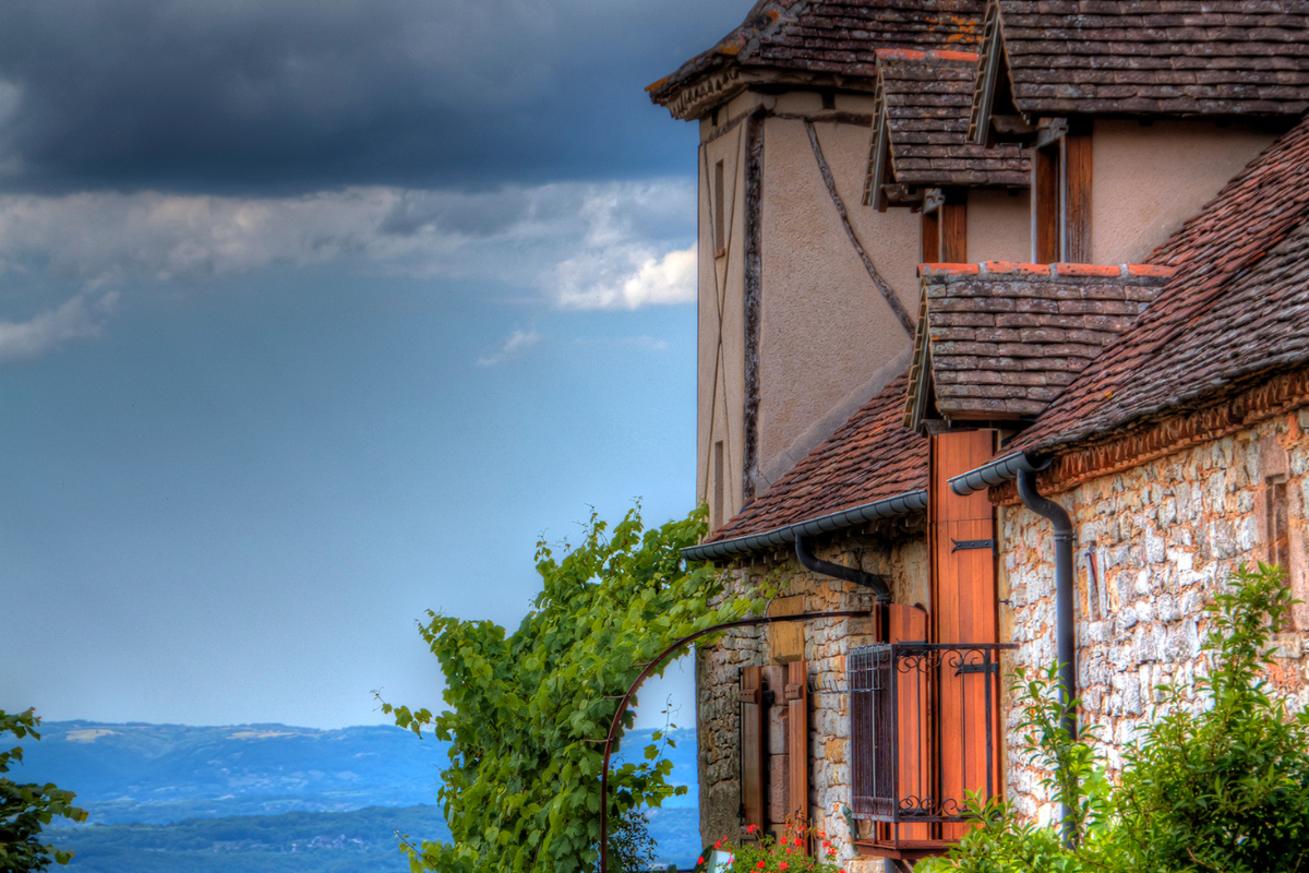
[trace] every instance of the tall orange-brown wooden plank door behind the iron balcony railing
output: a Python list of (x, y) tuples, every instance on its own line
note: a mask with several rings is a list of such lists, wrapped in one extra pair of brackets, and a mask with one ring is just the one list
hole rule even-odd
[[(945, 432), (932, 437), (929, 537), (932, 548), (932, 637), (935, 643), (999, 641), (995, 586), (995, 509), (986, 492), (959, 497), (949, 479), (991, 459), (991, 431)], [(942, 653), (936, 671), (937, 797), (959, 806), (969, 791), (987, 788), (986, 675), (963, 670), (975, 658)], [(999, 705), (991, 677), (991, 733), (999, 733)], [(992, 784), (999, 755), (990, 750)], [(944, 825), (942, 839), (958, 839), (967, 826)]]

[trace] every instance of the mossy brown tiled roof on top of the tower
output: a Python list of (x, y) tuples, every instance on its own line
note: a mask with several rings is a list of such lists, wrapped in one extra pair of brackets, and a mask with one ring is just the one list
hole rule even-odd
[(647, 90), (661, 106), (724, 67), (877, 75), (878, 48), (975, 46), (983, 0), (759, 0), (745, 22)]

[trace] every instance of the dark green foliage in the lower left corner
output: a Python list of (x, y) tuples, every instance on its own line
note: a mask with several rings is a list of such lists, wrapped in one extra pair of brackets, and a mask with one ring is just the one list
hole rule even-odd
[[(18, 739), (30, 736), (41, 739), (41, 719), (33, 709), (18, 715), (0, 709), (0, 734), (12, 733)], [(9, 772), (10, 762), (22, 763), (22, 746), (0, 751), (0, 774)], [(67, 864), (72, 855), (39, 839), (41, 828), (56, 815), (75, 822), (86, 821), (86, 810), (73, 806), (73, 792), (54, 784), (18, 784), (0, 776), (0, 870), (43, 870), (55, 860)]]

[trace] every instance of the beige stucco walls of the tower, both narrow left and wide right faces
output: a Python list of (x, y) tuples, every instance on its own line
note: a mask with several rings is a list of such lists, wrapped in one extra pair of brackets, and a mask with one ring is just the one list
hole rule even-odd
[[(816, 93), (745, 93), (719, 126), (764, 106), (818, 115)], [(870, 98), (836, 96), (836, 110), (867, 114)], [(700, 120), (696, 495), (715, 503), (715, 444), (724, 444), (724, 521), (742, 504), (745, 461), (745, 149), (747, 123), (711, 143)], [(901, 302), (918, 312), (918, 216), (860, 205), (869, 128), (817, 124), (823, 156), (861, 243)], [(713, 171), (725, 170), (726, 255), (713, 258)], [(873, 287), (840, 224), (804, 123), (763, 122), (761, 202), (759, 471), (762, 493), (908, 364), (911, 340)], [(721, 321), (721, 330), (720, 330)], [(721, 335), (721, 349), (720, 349)]]

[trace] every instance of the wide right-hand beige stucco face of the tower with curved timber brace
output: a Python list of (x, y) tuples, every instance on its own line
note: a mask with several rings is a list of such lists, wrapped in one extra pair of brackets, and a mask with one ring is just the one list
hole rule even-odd
[[(870, 113), (867, 97), (836, 109)], [(814, 115), (812, 93), (778, 97), (778, 113)], [(860, 204), (869, 128), (816, 124), (823, 157), (860, 242), (905, 309), (918, 310), (918, 216)], [(899, 374), (910, 336), (873, 285), (842, 226), (801, 120), (764, 123), (763, 294), (761, 331), (761, 491)], [(825, 425), (814, 429), (817, 421)]]

